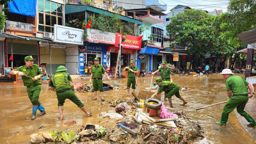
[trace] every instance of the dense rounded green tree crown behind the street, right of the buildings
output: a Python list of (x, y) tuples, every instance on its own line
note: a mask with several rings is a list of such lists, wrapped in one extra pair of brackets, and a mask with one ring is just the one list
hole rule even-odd
[(214, 16), (190, 9), (171, 17), (170, 21), (166, 26), (167, 34), (179, 44), (186, 45), (188, 52), (195, 56), (209, 54), (219, 46), (218, 36), (212, 27)]

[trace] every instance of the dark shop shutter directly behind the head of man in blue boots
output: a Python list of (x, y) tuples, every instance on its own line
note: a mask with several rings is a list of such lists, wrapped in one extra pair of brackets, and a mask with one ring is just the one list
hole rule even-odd
[[(7, 39), (7, 51), (11, 54), (11, 39)], [(38, 42), (13, 39), (13, 54), (38, 55)]]

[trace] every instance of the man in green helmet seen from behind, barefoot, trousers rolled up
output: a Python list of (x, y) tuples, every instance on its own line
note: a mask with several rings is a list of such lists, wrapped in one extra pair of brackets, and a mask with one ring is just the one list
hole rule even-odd
[(73, 90), (76, 90), (72, 83), (72, 79), (70, 74), (66, 73), (67, 69), (64, 66), (59, 66), (56, 70), (56, 74), (51, 77), (49, 81), (48, 90), (55, 90), (58, 99), (58, 108), (59, 113), (61, 115), (59, 120), (63, 120), (63, 106), (66, 99), (70, 99), (74, 102), (84, 113), (86, 113), (87, 117), (90, 117), (90, 113), (87, 112), (84, 104), (78, 99), (77, 95)]

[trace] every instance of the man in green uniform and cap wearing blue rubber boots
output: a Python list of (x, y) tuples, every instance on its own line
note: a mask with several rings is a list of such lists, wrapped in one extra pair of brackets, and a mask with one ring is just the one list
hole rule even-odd
[(10, 72), (12, 75), (16, 74), (22, 76), (24, 86), (27, 87), (29, 99), (33, 105), (31, 120), (36, 119), (35, 114), (37, 109), (41, 112), (38, 116), (46, 114), (44, 106), (38, 100), (42, 84), (40, 77), (43, 76), (43, 73), (39, 69), (38, 65), (34, 64), (34, 60), (35, 59), (33, 59), (32, 56), (26, 56), (24, 59), (26, 65), (20, 66)]

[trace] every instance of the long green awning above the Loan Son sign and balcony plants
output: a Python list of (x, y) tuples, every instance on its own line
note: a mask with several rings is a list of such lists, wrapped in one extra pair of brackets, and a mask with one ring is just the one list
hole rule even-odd
[[(94, 13), (100, 13), (100, 14), (108, 15), (108, 16), (111, 16), (111, 15), (115, 14), (115, 13), (109, 12), (107, 10), (103, 10), (103, 9), (100, 9), (100, 8), (95, 8), (93, 6), (70, 5), (70, 4), (66, 4), (65, 14), (78, 13), (78, 12), (82, 12), (82, 11), (86, 11), (86, 10), (94, 12)], [(132, 22), (132, 23), (135, 23), (135, 24), (142, 25), (142, 21), (137, 20), (137, 19), (132, 19), (130, 17), (126, 17), (126, 16), (123, 16), (123, 15), (119, 15), (119, 19), (122, 19), (122, 20), (127, 21), (127, 22)]]

